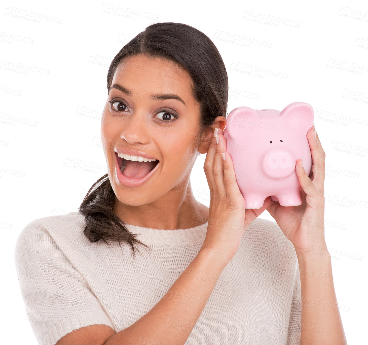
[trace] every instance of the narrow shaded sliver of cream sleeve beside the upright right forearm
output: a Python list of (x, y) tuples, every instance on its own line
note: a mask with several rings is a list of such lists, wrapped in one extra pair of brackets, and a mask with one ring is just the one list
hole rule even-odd
[(299, 265), (294, 279), (293, 299), (291, 301), (289, 331), (287, 335), (287, 345), (300, 345), (301, 336), (301, 286)]

